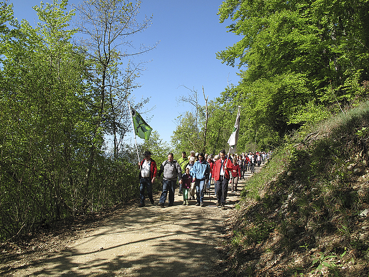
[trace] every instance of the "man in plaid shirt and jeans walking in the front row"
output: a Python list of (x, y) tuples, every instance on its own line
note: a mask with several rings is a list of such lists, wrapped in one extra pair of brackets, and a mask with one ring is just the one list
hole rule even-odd
[(182, 169), (179, 163), (174, 160), (173, 153), (168, 154), (168, 160), (164, 161), (160, 167), (160, 171), (158, 175), (164, 173), (163, 178), (163, 192), (160, 196), (159, 206), (164, 207), (164, 203), (167, 199), (168, 191), (168, 207), (173, 206), (174, 203), (174, 191), (176, 188), (177, 178), (179, 179), (179, 183), (182, 183)]

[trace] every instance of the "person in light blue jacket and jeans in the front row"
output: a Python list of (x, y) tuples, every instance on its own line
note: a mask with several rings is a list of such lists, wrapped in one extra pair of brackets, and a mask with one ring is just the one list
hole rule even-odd
[(210, 166), (202, 153), (199, 154), (199, 160), (191, 168), (190, 174), (193, 180), (195, 180), (196, 206), (202, 207), (204, 206), (204, 185), (210, 174)]

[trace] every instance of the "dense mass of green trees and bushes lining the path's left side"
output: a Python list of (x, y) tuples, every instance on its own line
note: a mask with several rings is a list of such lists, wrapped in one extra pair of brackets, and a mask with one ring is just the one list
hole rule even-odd
[(71, 42), (74, 10), (66, 0), (34, 10), (35, 28), (0, 3), (1, 241), (138, 195), (137, 161), (118, 157), (117, 145), (112, 156), (104, 151), (105, 134), (128, 130), (122, 110), (134, 72), (113, 91), (121, 72), (111, 65), (101, 106), (101, 83), (89, 72), (98, 66)]

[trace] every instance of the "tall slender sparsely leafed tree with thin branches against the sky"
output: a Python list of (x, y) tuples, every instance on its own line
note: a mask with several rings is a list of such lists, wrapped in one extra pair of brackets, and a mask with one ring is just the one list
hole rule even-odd
[[(83, 35), (79, 41), (80, 51), (89, 62), (85, 76), (90, 85), (91, 113), (95, 124), (84, 177), (86, 201), (90, 198), (90, 177), (95, 158), (104, 142), (104, 135), (113, 134), (114, 157), (117, 158), (117, 133), (124, 137), (129, 129), (127, 99), (136, 86), (133, 80), (138, 76), (140, 67), (128, 62), (123, 74), (119, 69), (122, 59), (152, 49), (144, 47), (133, 53), (123, 49), (133, 49), (130, 36), (150, 26), (151, 18), (145, 17), (141, 23), (136, 21), (140, 4), (141, 1), (133, 4), (124, 0), (84, 0), (76, 6), (80, 15), (77, 25)], [(108, 125), (110, 128), (104, 128)]]

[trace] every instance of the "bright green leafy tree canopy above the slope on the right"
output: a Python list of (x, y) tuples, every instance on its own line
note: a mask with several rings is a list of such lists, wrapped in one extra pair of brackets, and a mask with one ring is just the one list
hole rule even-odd
[(283, 136), (366, 97), (369, 1), (226, 0), (220, 22), (241, 39), (217, 57), (241, 69), (222, 96)]

